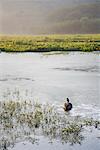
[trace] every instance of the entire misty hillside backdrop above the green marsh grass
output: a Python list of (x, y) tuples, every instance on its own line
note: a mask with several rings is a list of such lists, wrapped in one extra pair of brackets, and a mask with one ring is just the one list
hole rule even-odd
[(100, 0), (0, 0), (0, 33), (100, 33)]

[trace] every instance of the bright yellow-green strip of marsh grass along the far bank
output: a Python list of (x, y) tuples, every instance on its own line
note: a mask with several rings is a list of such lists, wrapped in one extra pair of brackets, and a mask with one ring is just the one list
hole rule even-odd
[(98, 51), (100, 34), (0, 36), (3, 52)]

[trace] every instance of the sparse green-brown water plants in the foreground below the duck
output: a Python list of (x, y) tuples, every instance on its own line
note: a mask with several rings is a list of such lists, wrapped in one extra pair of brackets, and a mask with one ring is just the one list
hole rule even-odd
[(62, 143), (81, 144), (86, 126), (100, 127), (100, 121), (60, 114), (54, 106), (27, 101), (0, 102), (0, 149), (21, 141), (37, 143), (39, 135)]

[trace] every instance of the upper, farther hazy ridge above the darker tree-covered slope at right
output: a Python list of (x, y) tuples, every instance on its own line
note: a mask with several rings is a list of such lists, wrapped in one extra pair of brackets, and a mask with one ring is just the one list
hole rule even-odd
[(83, 17), (88, 19), (100, 18), (100, 5), (84, 4), (72, 8), (61, 8), (52, 12), (48, 19), (50, 21), (65, 21), (65, 20), (79, 20)]

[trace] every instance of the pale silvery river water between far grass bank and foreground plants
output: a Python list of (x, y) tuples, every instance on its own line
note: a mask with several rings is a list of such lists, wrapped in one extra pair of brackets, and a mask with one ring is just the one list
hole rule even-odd
[[(66, 97), (73, 104), (71, 115), (100, 118), (100, 59), (99, 53), (0, 53), (0, 101), (38, 100), (51, 103), (62, 111)], [(92, 137), (92, 136), (91, 136)], [(92, 139), (92, 138), (91, 138)], [(87, 149), (93, 146), (93, 140)], [(43, 138), (41, 138), (43, 142)], [(45, 144), (29, 150), (44, 149)], [(17, 145), (15, 149), (19, 149)], [(27, 144), (26, 144), (27, 145)], [(100, 144), (97, 144), (100, 146)], [(55, 143), (49, 149), (66, 149)], [(68, 145), (67, 145), (68, 146)], [(74, 149), (86, 149), (83, 147)], [(89, 147), (90, 146), (90, 147)], [(27, 147), (27, 146), (26, 146)], [(72, 147), (68, 146), (69, 150)], [(14, 149), (14, 150), (15, 150)], [(25, 149), (25, 146), (21, 150)], [(94, 145), (93, 150), (98, 150)]]

